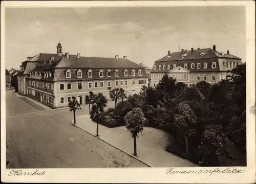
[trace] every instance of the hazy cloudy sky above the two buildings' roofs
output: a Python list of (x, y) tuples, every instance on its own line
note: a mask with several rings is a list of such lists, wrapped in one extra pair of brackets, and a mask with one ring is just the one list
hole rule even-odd
[(119, 57), (152, 67), (178, 48), (212, 48), (245, 61), (244, 7), (6, 8), (6, 68), (38, 53)]

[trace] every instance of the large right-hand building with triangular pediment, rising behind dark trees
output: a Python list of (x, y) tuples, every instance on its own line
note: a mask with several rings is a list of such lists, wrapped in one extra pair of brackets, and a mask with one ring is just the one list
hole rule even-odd
[(177, 82), (184, 82), (187, 86), (194, 86), (199, 81), (216, 83), (226, 79), (227, 71), (241, 64), (241, 58), (212, 49), (182, 49), (155, 61), (151, 70), (151, 86), (156, 86), (165, 73)]

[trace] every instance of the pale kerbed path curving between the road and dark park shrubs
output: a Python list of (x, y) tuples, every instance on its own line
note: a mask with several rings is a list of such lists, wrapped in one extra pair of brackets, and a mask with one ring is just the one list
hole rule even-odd
[[(89, 115), (76, 118), (76, 126), (96, 135), (97, 123)], [(125, 127), (108, 128), (99, 124), (99, 138), (113, 146), (133, 155), (133, 138)], [(144, 127), (142, 135), (137, 137), (137, 158), (153, 167), (197, 167), (186, 159), (182, 159), (164, 150), (169, 140), (165, 132)]]

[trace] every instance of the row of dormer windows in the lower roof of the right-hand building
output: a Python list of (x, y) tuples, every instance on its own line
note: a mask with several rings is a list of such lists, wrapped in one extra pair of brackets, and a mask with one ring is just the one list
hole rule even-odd
[[(237, 63), (233, 63), (231, 62), (231, 68), (236, 67)], [(176, 68), (176, 64), (173, 64), (173, 68)], [(184, 64), (184, 68), (187, 69), (187, 63)], [(195, 69), (195, 63), (191, 63), (190, 64), (190, 68), (191, 69)], [(197, 69), (201, 68), (201, 63), (197, 63)], [(203, 63), (203, 68), (206, 69), (207, 68), (207, 63), (204, 62)], [(216, 68), (216, 62), (212, 62), (211, 63), (211, 68)], [(230, 63), (229, 62), (224, 62), (224, 68), (230, 68)], [(156, 70), (156, 65), (154, 65), (154, 70)], [(158, 65), (158, 70), (162, 70), (162, 65)], [(163, 70), (166, 70), (166, 65), (163, 65)], [(167, 65), (167, 70), (170, 70), (170, 65)]]

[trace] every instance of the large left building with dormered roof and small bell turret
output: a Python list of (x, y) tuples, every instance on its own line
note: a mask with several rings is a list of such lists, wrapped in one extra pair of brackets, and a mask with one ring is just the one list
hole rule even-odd
[(20, 75), (25, 76), (25, 87), (19, 90), (52, 108), (68, 106), (72, 96), (84, 104), (89, 91), (102, 93), (107, 99), (114, 88), (123, 88), (127, 96), (138, 94), (148, 82), (145, 67), (126, 56), (103, 58), (62, 54), (60, 43), (57, 54), (40, 53), (25, 63)]

